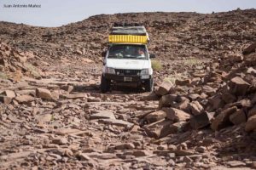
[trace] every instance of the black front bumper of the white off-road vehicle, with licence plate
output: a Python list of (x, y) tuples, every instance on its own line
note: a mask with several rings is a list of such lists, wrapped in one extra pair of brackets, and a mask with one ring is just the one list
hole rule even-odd
[(137, 76), (137, 75), (114, 75), (114, 74), (105, 74), (105, 78), (111, 80), (113, 82), (145, 82), (146, 80), (150, 79), (151, 76), (148, 77), (144, 76)]

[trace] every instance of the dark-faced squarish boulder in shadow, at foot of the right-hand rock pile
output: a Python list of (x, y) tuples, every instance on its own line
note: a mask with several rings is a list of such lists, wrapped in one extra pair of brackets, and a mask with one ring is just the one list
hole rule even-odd
[(207, 127), (212, 122), (214, 113), (203, 112), (200, 115), (195, 115), (190, 119), (190, 126), (193, 129)]

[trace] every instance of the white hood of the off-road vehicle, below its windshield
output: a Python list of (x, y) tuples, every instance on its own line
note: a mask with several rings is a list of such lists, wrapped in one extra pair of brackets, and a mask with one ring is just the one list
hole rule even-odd
[(107, 65), (114, 69), (142, 70), (150, 68), (148, 59), (108, 59)]

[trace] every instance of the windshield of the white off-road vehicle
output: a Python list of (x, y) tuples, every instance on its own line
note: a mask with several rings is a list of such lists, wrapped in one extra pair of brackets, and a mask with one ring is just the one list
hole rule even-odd
[(108, 49), (111, 59), (148, 59), (145, 45), (118, 44)]

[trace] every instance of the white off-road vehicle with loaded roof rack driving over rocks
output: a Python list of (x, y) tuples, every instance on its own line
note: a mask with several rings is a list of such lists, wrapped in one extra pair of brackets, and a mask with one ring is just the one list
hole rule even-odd
[(148, 54), (148, 32), (144, 26), (114, 26), (108, 37), (104, 57), (101, 90), (108, 92), (114, 84), (136, 85), (153, 90), (153, 70)]

